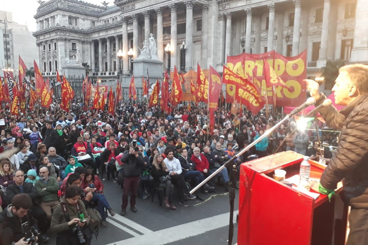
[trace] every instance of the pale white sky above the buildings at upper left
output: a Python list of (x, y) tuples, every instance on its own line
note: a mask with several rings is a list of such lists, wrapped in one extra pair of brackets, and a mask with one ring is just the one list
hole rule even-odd
[[(102, 5), (103, 0), (84, 0), (88, 3)], [(113, 5), (114, 0), (106, 0), (106, 3)], [(0, 0), (1, 10), (13, 13), (13, 21), (18, 24), (27, 24), (28, 29), (32, 32), (36, 31), (36, 14), (39, 6), (37, 0)]]

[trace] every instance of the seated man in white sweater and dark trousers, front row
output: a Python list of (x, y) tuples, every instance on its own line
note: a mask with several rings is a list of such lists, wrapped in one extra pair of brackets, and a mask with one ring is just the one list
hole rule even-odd
[(187, 204), (184, 201), (184, 193), (186, 192), (188, 199), (195, 199), (195, 196), (189, 193), (187, 190), (187, 185), (185, 183), (184, 177), (181, 175), (181, 165), (177, 158), (174, 158), (174, 150), (171, 148), (165, 152), (166, 158), (164, 159), (165, 165), (169, 170), (169, 174), (171, 177), (171, 182), (178, 188), (179, 194), (179, 204), (186, 206)]

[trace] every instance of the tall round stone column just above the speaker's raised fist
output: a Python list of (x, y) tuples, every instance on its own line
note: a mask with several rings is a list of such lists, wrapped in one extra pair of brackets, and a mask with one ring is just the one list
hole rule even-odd
[(328, 33), (330, 28), (330, 0), (325, 0), (323, 4), (323, 22), (321, 34), (321, 49), (319, 51), (319, 60), (317, 66), (325, 66), (327, 60)]

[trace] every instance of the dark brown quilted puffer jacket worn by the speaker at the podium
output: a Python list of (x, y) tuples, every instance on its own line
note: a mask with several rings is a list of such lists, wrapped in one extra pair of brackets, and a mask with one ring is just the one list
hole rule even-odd
[[(321, 94), (316, 106), (326, 96)], [(362, 95), (338, 112), (333, 106), (319, 113), (328, 126), (341, 129), (339, 145), (321, 177), (329, 190), (342, 180), (344, 200), (353, 208), (368, 209), (368, 95)]]

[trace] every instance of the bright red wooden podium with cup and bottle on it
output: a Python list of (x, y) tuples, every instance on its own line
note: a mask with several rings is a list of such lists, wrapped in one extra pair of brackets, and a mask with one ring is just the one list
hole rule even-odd
[[(287, 151), (241, 165), (238, 245), (345, 244), (347, 206), (340, 197), (314, 199), (273, 179), (275, 169), (286, 170), (286, 179), (299, 174), (302, 160)], [(325, 166), (309, 162), (311, 178), (320, 179)], [(339, 183), (336, 193), (341, 189)]]

